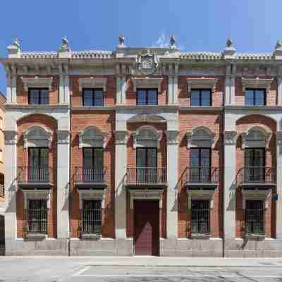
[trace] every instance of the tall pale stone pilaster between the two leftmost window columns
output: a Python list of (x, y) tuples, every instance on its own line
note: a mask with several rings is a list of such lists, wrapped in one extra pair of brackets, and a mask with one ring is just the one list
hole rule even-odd
[(66, 239), (69, 233), (68, 193), (70, 179), (70, 132), (57, 130), (57, 236)]

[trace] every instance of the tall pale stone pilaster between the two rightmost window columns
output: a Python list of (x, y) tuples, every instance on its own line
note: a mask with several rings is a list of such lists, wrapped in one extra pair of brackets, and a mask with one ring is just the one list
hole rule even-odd
[(236, 138), (235, 131), (224, 132), (224, 234), (235, 238)]

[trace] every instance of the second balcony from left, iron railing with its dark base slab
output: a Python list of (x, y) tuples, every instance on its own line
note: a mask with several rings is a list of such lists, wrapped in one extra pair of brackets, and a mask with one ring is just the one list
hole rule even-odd
[(78, 189), (104, 189), (106, 188), (106, 168), (75, 167), (74, 182)]

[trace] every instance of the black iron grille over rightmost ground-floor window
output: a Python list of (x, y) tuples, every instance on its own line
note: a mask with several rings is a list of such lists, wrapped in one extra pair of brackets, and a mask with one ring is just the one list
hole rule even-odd
[(264, 235), (264, 201), (246, 201), (245, 225), (247, 234)]

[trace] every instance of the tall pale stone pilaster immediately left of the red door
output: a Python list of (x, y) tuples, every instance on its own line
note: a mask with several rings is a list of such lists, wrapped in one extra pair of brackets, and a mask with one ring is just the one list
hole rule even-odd
[(128, 132), (126, 130), (115, 131), (116, 158), (115, 158), (115, 223), (116, 238), (126, 238), (126, 191), (124, 178), (126, 174), (127, 154), (126, 144)]

